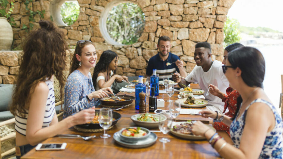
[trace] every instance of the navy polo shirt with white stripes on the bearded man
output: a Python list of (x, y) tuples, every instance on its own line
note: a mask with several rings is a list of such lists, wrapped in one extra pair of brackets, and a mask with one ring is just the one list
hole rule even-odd
[[(147, 64), (146, 74), (151, 76), (152, 70), (156, 69), (156, 74), (159, 74), (160, 80), (164, 77), (169, 77), (170, 80), (172, 80), (172, 73), (180, 72), (179, 68), (177, 67), (176, 62), (177, 60), (180, 60), (180, 58), (169, 52), (169, 56), (167, 60), (162, 61), (159, 57), (159, 53), (151, 57)], [(166, 66), (166, 63), (173, 63), (172, 65)]]

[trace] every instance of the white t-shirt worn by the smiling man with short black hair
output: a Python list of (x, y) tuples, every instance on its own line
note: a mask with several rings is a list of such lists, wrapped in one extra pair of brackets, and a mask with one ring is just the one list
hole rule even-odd
[[(195, 66), (185, 80), (188, 82), (198, 82), (200, 88), (205, 91), (204, 94), (207, 93), (209, 84), (217, 86), (223, 93), (225, 93), (226, 89), (229, 87), (228, 79), (225, 77), (222, 70), (222, 63), (217, 60), (213, 61), (212, 66), (207, 72), (204, 72), (201, 66)], [(208, 109), (223, 112), (224, 102), (222, 102), (219, 97), (209, 93), (205, 98), (208, 101), (208, 105), (206, 106)]]

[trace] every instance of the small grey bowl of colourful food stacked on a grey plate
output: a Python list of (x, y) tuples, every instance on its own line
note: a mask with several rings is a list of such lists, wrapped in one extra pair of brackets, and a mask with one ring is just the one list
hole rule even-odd
[(127, 127), (119, 131), (120, 138), (125, 142), (137, 142), (150, 136), (150, 131), (144, 127)]

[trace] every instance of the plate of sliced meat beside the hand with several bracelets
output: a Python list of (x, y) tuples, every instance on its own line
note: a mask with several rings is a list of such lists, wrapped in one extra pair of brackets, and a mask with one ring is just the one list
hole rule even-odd
[[(206, 140), (204, 136), (198, 136), (192, 133), (192, 123), (193, 121), (191, 120), (173, 123), (173, 127), (171, 128), (170, 133), (184, 139)], [(216, 132), (216, 130), (212, 126), (209, 127)]]

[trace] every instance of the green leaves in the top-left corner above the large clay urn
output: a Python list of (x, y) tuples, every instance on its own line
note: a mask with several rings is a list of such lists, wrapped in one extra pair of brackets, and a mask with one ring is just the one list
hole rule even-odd
[(15, 20), (13, 17), (11, 17), (11, 13), (14, 9), (14, 3), (11, 1), (10, 8), (8, 9), (8, 13), (6, 13), (6, 8), (9, 4), (9, 1), (7, 0), (0, 0), (0, 17), (5, 17), (9, 21), (11, 25), (16, 25)]

